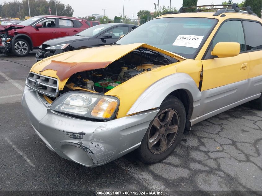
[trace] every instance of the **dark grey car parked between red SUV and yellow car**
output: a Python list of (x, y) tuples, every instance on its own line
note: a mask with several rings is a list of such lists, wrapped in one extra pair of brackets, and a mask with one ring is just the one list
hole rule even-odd
[(100, 24), (74, 36), (51, 39), (40, 46), (41, 49), (36, 53), (36, 60), (71, 50), (113, 44), (121, 35), (127, 34), (136, 27), (137, 25), (134, 24)]

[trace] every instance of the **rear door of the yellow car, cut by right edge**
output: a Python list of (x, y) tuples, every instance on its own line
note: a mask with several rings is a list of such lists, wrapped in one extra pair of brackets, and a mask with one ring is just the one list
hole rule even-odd
[(262, 91), (262, 25), (258, 21), (243, 21), (243, 27), (250, 57), (249, 87), (246, 89), (246, 97), (250, 97)]

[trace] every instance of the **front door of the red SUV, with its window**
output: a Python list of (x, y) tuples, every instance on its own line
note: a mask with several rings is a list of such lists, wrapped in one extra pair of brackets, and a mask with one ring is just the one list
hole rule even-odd
[(46, 18), (37, 24), (42, 24), (42, 28), (34, 28), (30, 37), (34, 47), (40, 46), (43, 42), (58, 37), (58, 28), (55, 18)]

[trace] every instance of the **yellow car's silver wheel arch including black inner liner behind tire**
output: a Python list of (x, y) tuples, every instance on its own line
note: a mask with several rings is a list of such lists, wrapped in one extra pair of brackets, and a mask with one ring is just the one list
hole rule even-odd
[(177, 97), (183, 103), (187, 116), (186, 130), (189, 133), (193, 103), (201, 99), (201, 92), (195, 81), (186, 73), (171, 74), (153, 83), (140, 95), (127, 115), (158, 108), (168, 95)]

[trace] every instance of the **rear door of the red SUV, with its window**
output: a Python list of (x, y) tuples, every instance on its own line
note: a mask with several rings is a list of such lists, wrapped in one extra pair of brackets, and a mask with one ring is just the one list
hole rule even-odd
[(71, 36), (79, 32), (79, 28), (74, 27), (74, 23), (70, 19), (59, 18), (58, 23), (59, 23), (59, 28), (58, 28), (59, 37)]

